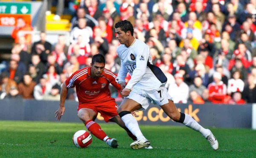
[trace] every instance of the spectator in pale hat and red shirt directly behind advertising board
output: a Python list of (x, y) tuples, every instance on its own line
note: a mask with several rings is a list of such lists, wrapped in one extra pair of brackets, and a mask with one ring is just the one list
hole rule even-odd
[(208, 85), (209, 101), (212, 103), (224, 103), (227, 95), (227, 86), (221, 81), (221, 73), (213, 74), (213, 82)]

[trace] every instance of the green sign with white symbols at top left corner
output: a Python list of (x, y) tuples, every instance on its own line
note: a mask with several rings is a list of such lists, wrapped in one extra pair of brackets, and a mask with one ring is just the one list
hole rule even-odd
[(0, 2), (0, 14), (31, 14), (31, 4)]

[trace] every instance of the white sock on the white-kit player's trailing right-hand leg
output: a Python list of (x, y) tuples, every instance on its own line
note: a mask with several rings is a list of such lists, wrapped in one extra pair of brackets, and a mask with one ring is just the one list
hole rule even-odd
[(207, 130), (204, 127), (202, 127), (200, 124), (198, 124), (197, 121), (195, 121), (190, 115), (188, 115), (186, 113), (185, 113), (185, 120), (184, 120), (183, 124), (186, 127), (189, 127), (193, 130), (200, 132), (204, 136), (204, 138), (206, 138), (208, 135), (210, 135), (210, 130)]

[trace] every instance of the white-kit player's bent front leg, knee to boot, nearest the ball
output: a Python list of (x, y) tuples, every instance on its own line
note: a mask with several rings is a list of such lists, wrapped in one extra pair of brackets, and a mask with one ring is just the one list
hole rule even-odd
[(140, 149), (150, 146), (150, 141), (148, 141), (144, 137), (144, 135), (140, 131), (137, 120), (131, 115), (132, 111), (139, 110), (141, 107), (141, 104), (139, 104), (138, 102), (135, 102), (134, 100), (129, 98), (124, 98), (124, 100), (117, 109), (117, 113), (121, 117), (122, 121), (125, 123), (125, 126), (131, 131), (133, 135), (137, 137), (137, 141), (134, 141), (130, 145), (132, 149)]

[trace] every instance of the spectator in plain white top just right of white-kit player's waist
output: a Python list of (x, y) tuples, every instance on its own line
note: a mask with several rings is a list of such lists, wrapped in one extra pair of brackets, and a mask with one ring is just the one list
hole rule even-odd
[(183, 82), (183, 75), (181, 73), (175, 74), (175, 83), (169, 85), (168, 93), (172, 96), (174, 103), (187, 103), (189, 99), (189, 86)]

